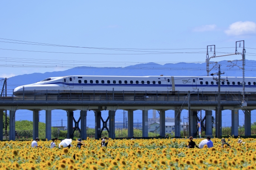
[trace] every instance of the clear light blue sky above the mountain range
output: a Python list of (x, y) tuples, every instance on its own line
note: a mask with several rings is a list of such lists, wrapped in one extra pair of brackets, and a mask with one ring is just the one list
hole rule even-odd
[[(60, 60), (56, 62), (56, 65), (61, 65), (62, 60), (67, 60), (69, 67), (72, 67), (72, 64), (76, 66), (76, 61), (84, 61), (91, 66), (128, 66), (136, 62), (204, 62), (206, 49), (194, 48), (206, 48), (207, 45), (216, 45), (216, 48), (234, 47), (235, 41), (238, 40), (245, 40), (245, 47), (255, 48), (255, 5), (256, 2), (253, 0), (244, 2), (236, 0), (214, 2), (165, 0), (142, 0), (139, 2), (1, 1), (0, 38), (3, 39), (97, 48), (180, 49), (151, 51), (200, 53), (132, 55), (145, 52), (0, 42), (0, 53), (3, 57), (0, 58), (0, 63), (2, 65), (21, 65), (18, 68), (4, 67), (5, 69), (1, 71), (0, 77), (67, 69), (57, 68), (57, 66), (56, 68), (38, 68), (37, 66), (40, 63), (34, 63), (36, 68), (22, 66), (26, 65), (31, 58)], [(15, 42), (3, 39), (0, 39), (0, 41)], [(184, 48), (193, 49), (185, 50)], [(239, 50), (241, 51), (241, 49)], [(235, 52), (235, 49), (224, 48), (216, 49), (216, 51)], [(255, 54), (256, 49), (247, 49), (247, 52)], [(21, 59), (17, 58), (23, 58), (23, 63), (20, 63)], [(255, 56), (247, 55), (246, 58), (254, 60)], [(234, 59), (241, 59), (241, 57), (223, 57), (216, 60)], [(19, 62), (17, 63), (17, 61)], [(123, 63), (97, 63), (102, 61)], [(30, 63), (30, 65), (33, 65), (33, 63)]]

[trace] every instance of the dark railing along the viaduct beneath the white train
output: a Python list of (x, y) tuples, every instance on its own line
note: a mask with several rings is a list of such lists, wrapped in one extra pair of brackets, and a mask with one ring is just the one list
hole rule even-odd
[[(8, 90), (7, 95), (0, 97), (1, 101), (184, 101), (188, 91), (43, 91), (34, 90), (30, 95), (13, 95)], [(40, 94), (40, 95), (38, 95)], [(221, 92), (221, 101), (242, 101), (242, 92)], [(246, 101), (256, 101), (256, 92), (246, 92)], [(218, 92), (191, 91), (190, 101), (218, 101)]]

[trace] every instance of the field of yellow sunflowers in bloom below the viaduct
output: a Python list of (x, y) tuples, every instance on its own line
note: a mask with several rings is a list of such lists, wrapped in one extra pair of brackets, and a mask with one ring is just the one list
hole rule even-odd
[[(201, 140), (194, 142), (199, 145)], [(43, 148), (31, 148), (32, 141), (6, 141), (0, 142), (0, 169), (254, 169), (256, 140), (242, 140), (245, 143), (238, 144), (231, 137), (231, 149), (219, 147), (221, 140), (216, 138), (210, 149), (188, 149), (188, 139), (110, 139), (107, 148), (101, 147), (101, 140), (87, 139), (81, 149), (75, 140), (69, 149), (50, 149), (51, 141), (47, 140), (38, 142)], [(59, 142), (55, 142), (56, 146)]]

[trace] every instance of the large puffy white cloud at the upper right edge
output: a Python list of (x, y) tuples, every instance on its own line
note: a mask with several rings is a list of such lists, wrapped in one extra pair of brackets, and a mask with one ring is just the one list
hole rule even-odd
[(229, 25), (229, 29), (224, 31), (229, 36), (241, 36), (256, 33), (256, 24), (251, 21), (238, 21)]

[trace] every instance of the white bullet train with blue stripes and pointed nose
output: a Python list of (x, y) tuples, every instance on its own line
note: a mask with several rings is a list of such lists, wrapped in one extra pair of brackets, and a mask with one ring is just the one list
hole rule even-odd
[[(14, 95), (66, 94), (70, 91), (218, 91), (216, 77), (64, 76), (19, 86)], [(242, 91), (242, 77), (222, 77), (221, 91)], [(256, 78), (245, 78), (245, 92), (256, 91)]]

